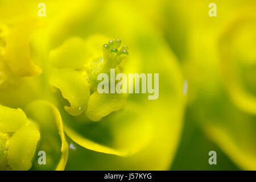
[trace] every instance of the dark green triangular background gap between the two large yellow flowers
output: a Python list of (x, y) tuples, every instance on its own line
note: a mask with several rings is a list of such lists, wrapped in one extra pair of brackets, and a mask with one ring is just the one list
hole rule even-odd
[[(217, 164), (210, 165), (209, 151), (216, 151)], [(184, 118), (184, 128), (174, 162), (170, 170), (241, 170), (197, 126), (189, 110)]]

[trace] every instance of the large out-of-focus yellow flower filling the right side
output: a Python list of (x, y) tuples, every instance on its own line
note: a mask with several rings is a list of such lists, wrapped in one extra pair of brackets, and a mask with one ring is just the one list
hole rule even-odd
[(186, 38), (187, 46), (179, 46), (178, 41), (170, 45), (181, 49), (176, 50), (177, 55), (185, 52), (182, 64), (189, 85), (191, 121), (198, 121), (205, 135), (239, 167), (254, 170), (255, 2), (218, 2), (214, 18), (208, 16), (209, 3), (169, 2), (174, 9), (186, 5), (175, 14), (181, 23), (171, 21), (175, 30), (187, 31), (170, 28), (166, 36), (169, 40), (179, 34)]

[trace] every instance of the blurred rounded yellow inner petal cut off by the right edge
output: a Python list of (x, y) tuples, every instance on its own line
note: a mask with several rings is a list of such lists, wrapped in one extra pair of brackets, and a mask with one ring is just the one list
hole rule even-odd
[(230, 20), (218, 44), (230, 97), (241, 110), (256, 115), (256, 16), (250, 10)]

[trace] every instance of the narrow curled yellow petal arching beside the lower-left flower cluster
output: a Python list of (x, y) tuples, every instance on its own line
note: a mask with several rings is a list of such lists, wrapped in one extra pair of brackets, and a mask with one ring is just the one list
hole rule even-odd
[[(42, 112), (44, 111), (44, 112)], [(46, 154), (53, 154), (55, 148), (48, 148), (49, 143), (52, 143), (53, 146), (59, 147), (59, 144), (55, 143), (58, 140), (54, 138), (59, 135), (60, 136), (60, 148), (58, 149), (61, 152), (59, 162), (55, 167), (56, 170), (64, 170), (65, 165), (68, 160), (68, 143), (65, 139), (64, 129), (63, 129), (63, 121), (59, 110), (56, 109), (54, 105), (47, 101), (35, 101), (32, 102), (26, 108), (26, 113), (28, 117), (34, 119), (34, 121), (39, 125), (42, 135), (42, 141), (40, 142), (39, 150), (46, 151)], [(42, 115), (42, 113), (44, 113)], [(46, 147), (46, 148), (44, 148)], [(56, 148), (56, 150), (57, 150)], [(56, 152), (59, 154), (59, 152)], [(50, 157), (48, 155), (48, 157)], [(56, 159), (55, 159), (56, 160)], [(49, 166), (55, 166), (50, 161)]]

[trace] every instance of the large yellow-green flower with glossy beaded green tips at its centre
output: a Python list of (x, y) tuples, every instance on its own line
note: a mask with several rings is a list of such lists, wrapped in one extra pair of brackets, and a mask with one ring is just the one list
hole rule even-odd
[[(41, 136), (36, 152), (47, 154), (46, 165), (34, 158), (31, 169), (62, 170), (66, 163), (66, 169), (168, 169), (179, 143), (185, 97), (179, 64), (162, 35), (126, 2), (75, 1), (61, 11), (58, 3), (47, 6), (52, 11), (44, 27), (36, 29), (37, 20), (27, 23), (23, 16), (11, 26), (5, 23), (10, 33), (1, 56), (7, 82), (0, 102), (22, 108), (36, 123)], [(34, 12), (32, 4), (22, 7)], [(127, 44), (129, 56), (115, 39), (102, 53), (102, 45), (115, 37)], [(158, 100), (94, 92), (97, 74), (113, 67), (125, 74), (159, 73)], [(77, 150), (68, 150), (64, 132)]]

